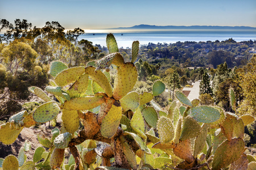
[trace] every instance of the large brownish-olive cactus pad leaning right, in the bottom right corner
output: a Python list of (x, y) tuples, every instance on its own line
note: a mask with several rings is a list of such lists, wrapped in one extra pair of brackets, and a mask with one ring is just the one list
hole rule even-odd
[(231, 141), (221, 143), (214, 154), (212, 169), (221, 169), (235, 162), (240, 158), (244, 148), (245, 143), (240, 138), (234, 138)]

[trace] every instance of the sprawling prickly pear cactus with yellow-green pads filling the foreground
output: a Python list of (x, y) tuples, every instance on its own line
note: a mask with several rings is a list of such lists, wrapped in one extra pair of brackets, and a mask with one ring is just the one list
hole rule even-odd
[[(68, 68), (60, 61), (52, 62), (53, 80), (51, 86), (46, 87), (47, 93), (38, 87), (30, 88), (45, 103), (31, 113), (17, 113), (2, 124), (0, 141), (9, 145), (24, 127), (48, 122), (59, 113), (62, 113), (63, 125), (61, 130), (52, 130), (51, 139), (38, 134), (39, 142), (50, 148), (49, 152), (43, 147), (37, 148), (34, 162), (23, 165), (8, 156), (3, 161), (3, 169), (10, 169), (10, 165), (6, 168), (7, 164), (23, 169), (29, 166), (94, 169), (96, 157), (101, 160), (101, 166), (96, 169), (255, 167), (255, 159), (243, 154), (243, 129), (254, 121), (253, 117), (238, 117), (221, 108), (199, 106), (198, 99), (189, 101), (179, 91), (168, 113), (163, 112), (154, 101), (154, 96), (166, 88), (160, 80), (154, 83), (152, 92), (132, 92), (137, 82), (133, 62), (139, 42), (133, 43), (131, 62), (125, 62), (118, 53), (112, 34), (106, 42), (110, 54), (86, 67)], [(113, 88), (108, 74), (112, 68), (117, 70)], [(234, 97), (232, 90), (230, 96)], [(236, 112), (233, 98), (231, 103)], [(84, 125), (82, 130), (80, 122)], [(72, 154), (68, 164), (63, 163), (66, 148)], [(42, 158), (44, 161), (38, 163)], [(119, 168), (110, 167), (113, 159)]]

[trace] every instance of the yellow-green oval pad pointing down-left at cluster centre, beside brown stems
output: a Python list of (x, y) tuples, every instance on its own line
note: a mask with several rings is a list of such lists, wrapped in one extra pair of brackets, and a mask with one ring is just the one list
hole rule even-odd
[(106, 138), (112, 138), (117, 132), (121, 118), (122, 108), (112, 105), (112, 108), (102, 120), (101, 135)]

